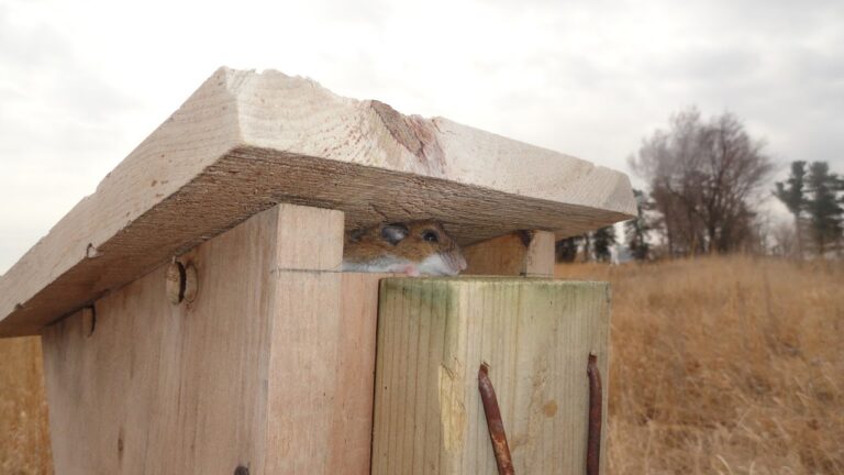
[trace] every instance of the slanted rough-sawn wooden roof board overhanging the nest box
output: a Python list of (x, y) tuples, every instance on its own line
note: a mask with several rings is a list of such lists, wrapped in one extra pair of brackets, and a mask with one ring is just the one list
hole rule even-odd
[(437, 219), (460, 243), (635, 213), (623, 174), (309, 79), (219, 69), (9, 272), (0, 336), (45, 324), (290, 202), (346, 227)]

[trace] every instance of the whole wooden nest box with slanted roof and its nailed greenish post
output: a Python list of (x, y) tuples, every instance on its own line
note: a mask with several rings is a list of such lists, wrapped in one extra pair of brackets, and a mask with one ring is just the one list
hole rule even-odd
[[(621, 173), (221, 68), (0, 277), (0, 336), (43, 339), (59, 475), (496, 473), (481, 363), (515, 473), (580, 474), (609, 291), (554, 241), (633, 214)], [(464, 275), (340, 272), (417, 219)]]

